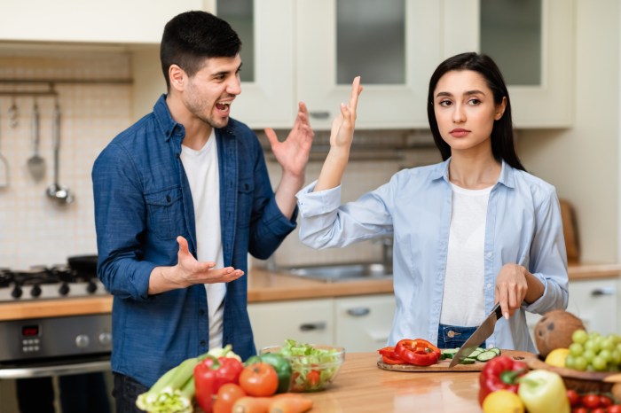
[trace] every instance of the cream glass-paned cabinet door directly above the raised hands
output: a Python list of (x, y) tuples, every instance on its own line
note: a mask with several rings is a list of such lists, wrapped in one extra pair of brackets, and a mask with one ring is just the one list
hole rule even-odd
[[(309, 106), (313, 128), (330, 128), (357, 74), (365, 87), (358, 104), (358, 129), (428, 128), (428, 79), (440, 58), (440, 3), (298, 1), (296, 94)], [(398, 7), (403, 12), (390, 19), (387, 11)], [(340, 11), (347, 15), (339, 16)], [(401, 36), (389, 37), (393, 24), (403, 24)], [(395, 75), (397, 71), (403, 73)]]

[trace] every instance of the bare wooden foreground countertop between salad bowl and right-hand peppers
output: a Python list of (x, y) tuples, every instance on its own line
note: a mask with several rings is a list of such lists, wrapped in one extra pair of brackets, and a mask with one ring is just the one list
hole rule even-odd
[(377, 354), (345, 355), (334, 383), (325, 391), (304, 394), (311, 413), (481, 412), (478, 372), (397, 372), (377, 367)]

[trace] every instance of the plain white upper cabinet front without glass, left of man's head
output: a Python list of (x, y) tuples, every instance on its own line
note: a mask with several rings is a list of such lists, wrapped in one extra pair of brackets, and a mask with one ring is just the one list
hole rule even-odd
[(204, 0), (30, 0), (0, 4), (0, 40), (160, 43), (180, 12), (206, 10)]

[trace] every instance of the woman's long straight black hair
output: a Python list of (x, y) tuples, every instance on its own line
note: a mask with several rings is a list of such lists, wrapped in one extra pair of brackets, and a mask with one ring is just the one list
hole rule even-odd
[(437, 128), (434, 110), (434, 91), (440, 78), (452, 70), (472, 70), (481, 74), (493, 93), (494, 104), (496, 105), (502, 103), (503, 97), (507, 97), (505, 113), (498, 121), (494, 121), (491, 129), (491, 152), (496, 160), (505, 160), (513, 168), (526, 170), (517, 157), (517, 153), (515, 153), (511, 101), (509, 100), (509, 92), (505, 80), (498, 66), (489, 56), (475, 52), (461, 53), (452, 58), (447, 58), (437, 66), (436, 71), (431, 75), (431, 80), (429, 80), (427, 117), (431, 134), (434, 136), (437, 149), (442, 154), (442, 159), (447, 160), (451, 157), (451, 146), (444, 142), (444, 139), (440, 136), (440, 130)]

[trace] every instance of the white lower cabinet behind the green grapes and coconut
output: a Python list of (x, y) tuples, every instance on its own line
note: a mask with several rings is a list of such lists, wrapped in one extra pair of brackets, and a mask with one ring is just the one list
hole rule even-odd
[[(570, 300), (567, 311), (578, 316), (587, 331), (602, 335), (617, 331), (617, 278), (570, 281)], [(526, 314), (532, 331), (541, 316)]]

